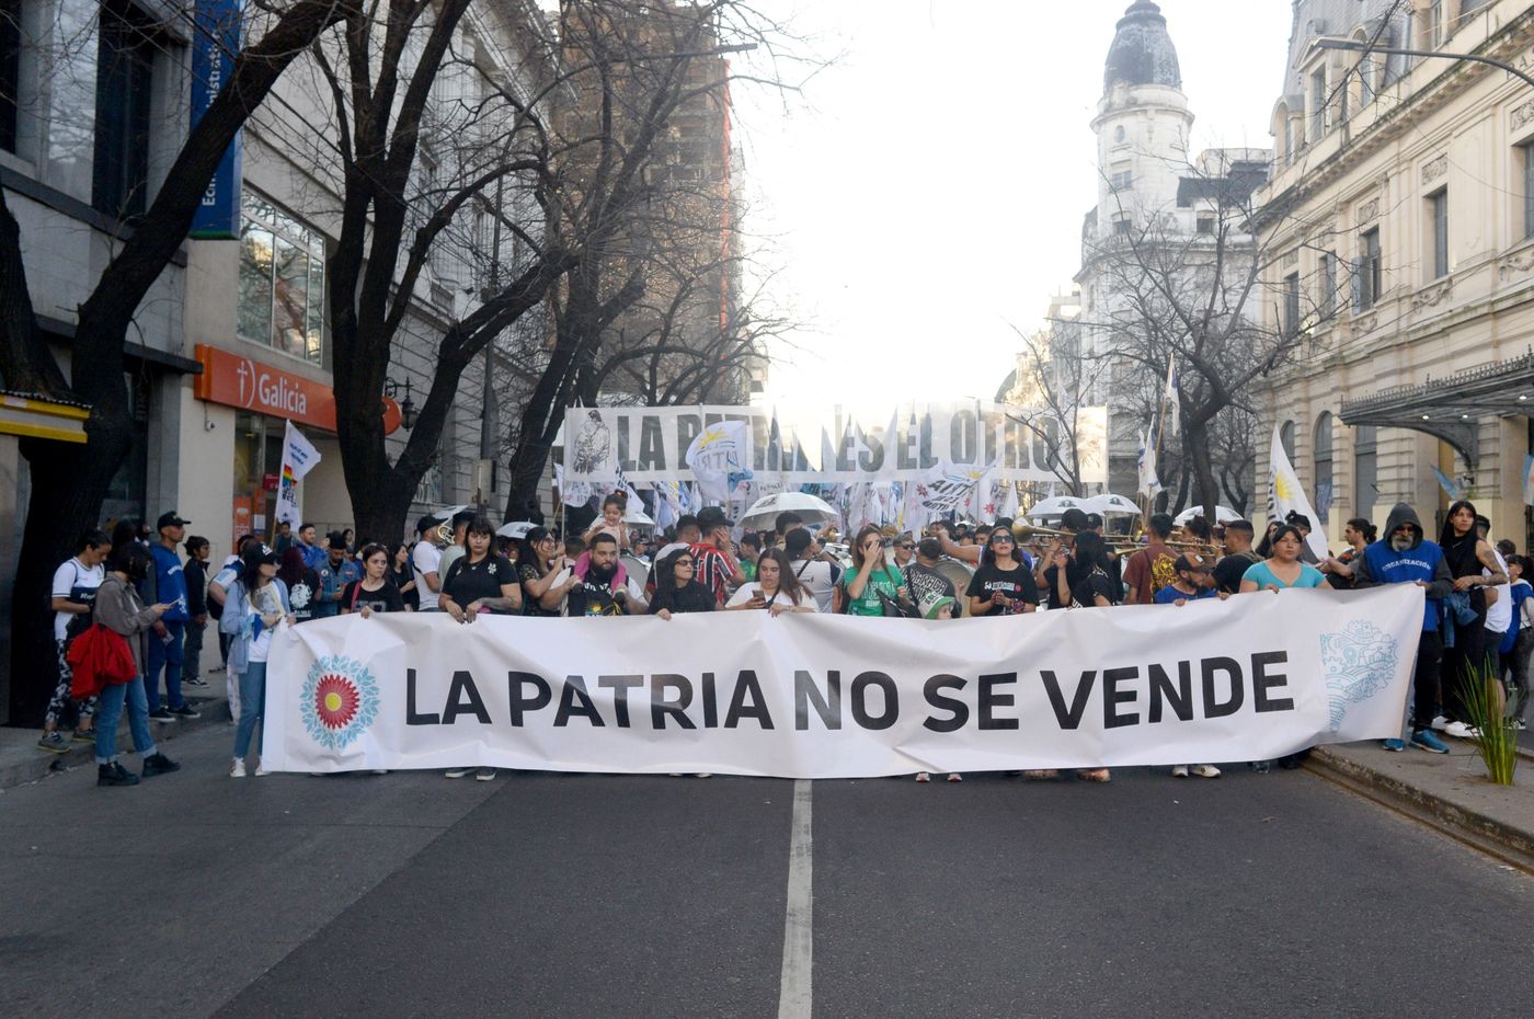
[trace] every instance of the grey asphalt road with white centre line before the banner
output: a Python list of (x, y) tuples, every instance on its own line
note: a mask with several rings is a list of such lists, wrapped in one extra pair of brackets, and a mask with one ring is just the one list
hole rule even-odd
[(227, 741), (0, 793), (0, 1016), (1534, 1014), (1534, 879), (1304, 772), (796, 819), (776, 780), (233, 781)]

